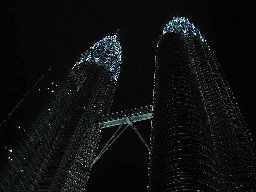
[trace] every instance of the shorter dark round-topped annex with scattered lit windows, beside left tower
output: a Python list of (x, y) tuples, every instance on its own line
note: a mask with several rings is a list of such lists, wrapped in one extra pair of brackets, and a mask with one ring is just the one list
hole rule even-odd
[(1, 191), (28, 186), (72, 105), (74, 81), (70, 68), (52, 66), (2, 123)]

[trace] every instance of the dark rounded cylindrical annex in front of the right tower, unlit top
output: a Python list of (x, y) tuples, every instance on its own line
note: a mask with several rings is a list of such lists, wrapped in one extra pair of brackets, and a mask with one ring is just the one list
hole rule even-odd
[(224, 191), (200, 83), (186, 38), (156, 48), (148, 191)]

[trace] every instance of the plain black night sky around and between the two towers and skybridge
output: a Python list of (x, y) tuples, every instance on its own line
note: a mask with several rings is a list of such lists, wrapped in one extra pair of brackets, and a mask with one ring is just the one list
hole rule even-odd
[[(2, 4), (2, 122), (53, 64), (72, 67), (108, 35), (122, 46), (121, 72), (110, 113), (152, 105), (156, 42), (174, 13), (194, 23), (215, 51), (247, 127), (256, 138), (255, 17), (250, 4)], [(198, 2), (198, 1), (196, 1)], [(137, 122), (149, 144), (151, 121)], [(99, 150), (115, 131), (103, 132)], [(255, 141), (255, 139), (254, 139)], [(93, 165), (87, 191), (146, 191), (148, 150), (128, 128)]]

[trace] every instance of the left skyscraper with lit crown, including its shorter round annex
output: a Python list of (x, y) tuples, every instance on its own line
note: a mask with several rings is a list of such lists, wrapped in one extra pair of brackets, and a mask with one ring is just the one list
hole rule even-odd
[(54, 65), (0, 128), (0, 191), (84, 191), (121, 65), (107, 36), (74, 67)]

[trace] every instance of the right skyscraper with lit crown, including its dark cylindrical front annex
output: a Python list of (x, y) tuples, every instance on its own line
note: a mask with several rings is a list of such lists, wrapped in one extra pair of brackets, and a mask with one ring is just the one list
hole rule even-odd
[(156, 45), (148, 192), (254, 191), (254, 144), (205, 37), (174, 17)]

